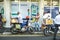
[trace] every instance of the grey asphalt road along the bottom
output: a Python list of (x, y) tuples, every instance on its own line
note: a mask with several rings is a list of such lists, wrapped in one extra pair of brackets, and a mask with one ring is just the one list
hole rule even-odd
[[(60, 36), (56, 37), (57, 40), (60, 40)], [(53, 36), (14, 36), (14, 37), (0, 37), (0, 40), (53, 40)]]

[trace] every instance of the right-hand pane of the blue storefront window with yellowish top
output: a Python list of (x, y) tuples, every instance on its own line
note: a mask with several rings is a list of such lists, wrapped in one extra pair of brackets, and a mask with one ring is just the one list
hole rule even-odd
[(55, 18), (59, 14), (59, 0), (52, 0), (51, 14), (52, 18)]

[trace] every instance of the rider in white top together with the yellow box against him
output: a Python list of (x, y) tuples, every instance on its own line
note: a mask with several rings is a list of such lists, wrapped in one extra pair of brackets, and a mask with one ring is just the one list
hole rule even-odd
[(51, 13), (49, 11), (45, 12), (43, 15), (43, 24), (47, 26), (48, 33), (50, 33), (50, 29), (52, 28), (53, 25), (53, 20), (51, 18)]

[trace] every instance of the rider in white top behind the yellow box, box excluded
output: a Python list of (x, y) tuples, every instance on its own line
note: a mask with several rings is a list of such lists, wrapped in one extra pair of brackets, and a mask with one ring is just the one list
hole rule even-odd
[(50, 13), (50, 11), (48, 11), (48, 12), (45, 12), (44, 14), (43, 14), (43, 24), (45, 25), (45, 26), (47, 26), (47, 28), (48, 28), (48, 33), (50, 33), (50, 28), (52, 28), (52, 24), (47, 24), (46, 23), (46, 20), (49, 20), (49, 19), (52, 19), (51, 18), (51, 13)]

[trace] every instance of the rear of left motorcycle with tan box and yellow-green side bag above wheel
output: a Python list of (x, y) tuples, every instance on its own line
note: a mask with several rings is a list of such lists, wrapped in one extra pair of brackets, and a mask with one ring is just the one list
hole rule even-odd
[(11, 33), (16, 34), (19, 33), (21, 30), (20, 23), (18, 23), (17, 18), (12, 18), (11, 19)]

